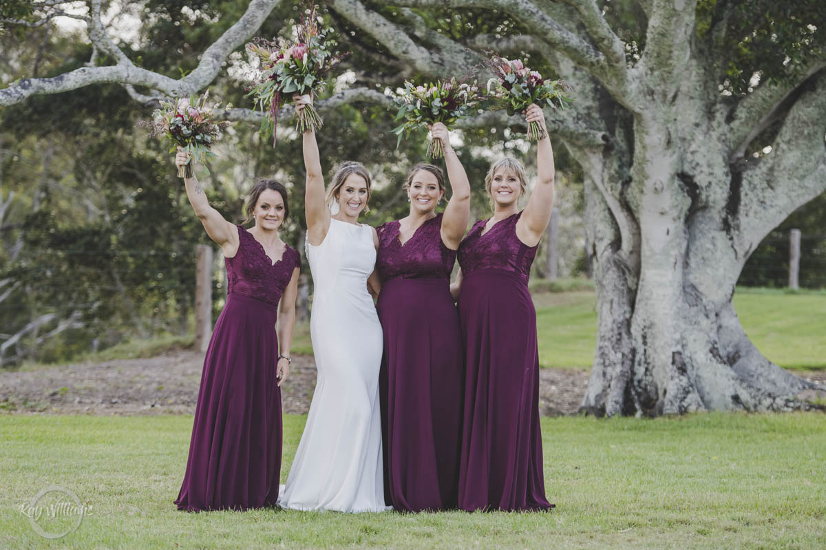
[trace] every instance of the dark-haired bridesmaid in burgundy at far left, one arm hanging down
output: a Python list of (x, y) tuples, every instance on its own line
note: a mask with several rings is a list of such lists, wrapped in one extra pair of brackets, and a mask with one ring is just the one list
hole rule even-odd
[[(175, 164), (188, 162), (178, 148)], [(175, 504), (189, 511), (275, 505), (279, 386), (290, 370), (301, 266), (298, 252), (278, 236), (289, 214), (287, 189), (272, 179), (256, 183), (246, 207), (246, 222), (255, 225), (245, 230), (209, 205), (196, 178), (184, 185), (207, 235), (224, 252), (228, 292), (204, 360), (187, 470)]]

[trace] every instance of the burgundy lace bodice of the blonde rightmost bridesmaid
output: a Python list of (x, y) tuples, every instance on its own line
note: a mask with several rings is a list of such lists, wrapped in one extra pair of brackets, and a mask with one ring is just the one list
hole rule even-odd
[(485, 235), (487, 220), (479, 220), (459, 244), (458, 259), (463, 274), (478, 269), (500, 268), (514, 272), (526, 283), (539, 244), (528, 246), (516, 236), (516, 222), (522, 212), (500, 220)]

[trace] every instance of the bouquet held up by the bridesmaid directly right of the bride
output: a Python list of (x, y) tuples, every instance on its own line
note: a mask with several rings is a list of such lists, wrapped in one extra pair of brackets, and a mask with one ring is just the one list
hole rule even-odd
[[(475, 114), (479, 102), (484, 98), (475, 81), (468, 84), (451, 78), (426, 86), (414, 86), (405, 81), (404, 90), (393, 96), (393, 104), (399, 109), (396, 121), (404, 120), (400, 126), (392, 130), (399, 136), (396, 147), (401, 143), (402, 133), (410, 134), (411, 130), (434, 122), (442, 122), (449, 126), (460, 118)], [(431, 140), (427, 155), (431, 159), (444, 157), (442, 140)]]

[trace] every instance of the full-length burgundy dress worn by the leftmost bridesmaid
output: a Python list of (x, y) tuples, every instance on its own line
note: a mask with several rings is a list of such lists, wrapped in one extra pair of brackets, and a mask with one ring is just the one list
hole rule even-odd
[(276, 378), (278, 300), (301, 265), (287, 246), (271, 263), (240, 225), (225, 258), (228, 294), (212, 333), (192, 425), (180, 510), (275, 505), (281, 472), (281, 390)]

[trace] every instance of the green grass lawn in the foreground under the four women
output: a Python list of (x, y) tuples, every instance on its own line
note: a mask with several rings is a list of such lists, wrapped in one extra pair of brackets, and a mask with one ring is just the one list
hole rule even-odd
[[(282, 481), (304, 420), (285, 418)], [(189, 514), (191, 415), (0, 415), (0, 548), (826, 548), (823, 415), (542, 426), (548, 514)], [(50, 541), (19, 506), (53, 484), (92, 512)]]

